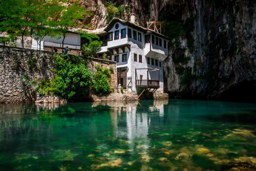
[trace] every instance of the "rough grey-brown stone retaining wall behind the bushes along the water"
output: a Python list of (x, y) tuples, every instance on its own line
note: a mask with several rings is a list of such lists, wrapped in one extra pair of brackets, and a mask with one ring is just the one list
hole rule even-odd
[[(35, 91), (36, 84), (42, 79), (51, 79), (54, 53), (22, 48), (0, 46), (0, 103), (18, 102), (61, 102), (58, 97), (39, 98)], [(88, 68), (101, 65), (113, 68), (111, 86), (117, 87), (116, 62), (88, 58)]]

